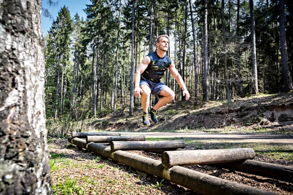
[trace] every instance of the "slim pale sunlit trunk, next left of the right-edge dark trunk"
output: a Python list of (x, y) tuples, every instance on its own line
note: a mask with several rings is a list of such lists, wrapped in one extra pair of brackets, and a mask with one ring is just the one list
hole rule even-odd
[(255, 21), (253, 11), (253, 0), (249, 0), (251, 13), (251, 57), (252, 57), (252, 94), (258, 94), (257, 62), (255, 45)]

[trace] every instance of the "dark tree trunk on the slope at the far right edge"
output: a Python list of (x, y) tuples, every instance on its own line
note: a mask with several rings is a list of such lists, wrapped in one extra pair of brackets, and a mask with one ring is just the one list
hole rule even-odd
[(286, 44), (286, 25), (285, 25), (285, 5), (284, 0), (279, 0), (279, 12), (280, 12), (280, 50), (283, 67), (283, 82), (284, 90), (286, 93), (293, 91), (292, 78), (289, 70), (287, 44)]

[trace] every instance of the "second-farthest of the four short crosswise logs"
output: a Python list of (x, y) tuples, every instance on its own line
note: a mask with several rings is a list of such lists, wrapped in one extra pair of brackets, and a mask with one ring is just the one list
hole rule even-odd
[(146, 141), (145, 136), (86, 136), (86, 142), (110, 143), (111, 141)]

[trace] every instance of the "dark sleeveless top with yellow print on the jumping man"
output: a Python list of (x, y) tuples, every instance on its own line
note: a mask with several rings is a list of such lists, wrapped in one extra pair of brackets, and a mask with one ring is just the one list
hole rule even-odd
[(171, 65), (172, 60), (167, 57), (167, 55), (165, 55), (164, 58), (160, 58), (156, 51), (149, 53), (147, 56), (150, 58), (150, 63), (141, 77), (158, 83), (161, 81), (161, 78), (163, 78), (165, 71)]

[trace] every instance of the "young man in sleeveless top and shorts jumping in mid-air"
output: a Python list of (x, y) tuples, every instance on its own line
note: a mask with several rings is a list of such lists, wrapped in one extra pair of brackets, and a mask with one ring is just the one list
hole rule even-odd
[(154, 105), (150, 111), (150, 120), (153, 123), (159, 123), (156, 117), (157, 111), (175, 97), (174, 92), (164, 83), (160, 82), (164, 72), (169, 69), (170, 73), (178, 82), (183, 90), (183, 96), (188, 100), (190, 95), (185, 86), (182, 77), (179, 75), (172, 60), (167, 57), (169, 37), (161, 35), (156, 41), (157, 51), (148, 54), (138, 65), (134, 75), (134, 96), (137, 98), (142, 95), (143, 125), (150, 125), (148, 117), (148, 106), (150, 94), (160, 97), (160, 100)]

